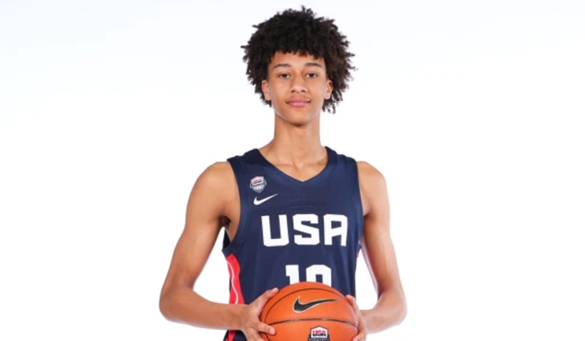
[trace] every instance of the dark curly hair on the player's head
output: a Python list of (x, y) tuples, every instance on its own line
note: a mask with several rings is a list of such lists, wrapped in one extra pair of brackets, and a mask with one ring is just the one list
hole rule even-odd
[(301, 8), (301, 11), (278, 12), (252, 26), (257, 30), (247, 45), (242, 46), (247, 78), (254, 85), (254, 92), (271, 106), (271, 102), (264, 99), (262, 81), (268, 78), (268, 66), (276, 52), (322, 57), (327, 78), (333, 83), (331, 98), (325, 99), (322, 110), (335, 113), (336, 105), (343, 99), (342, 93), (348, 88), (347, 82), (352, 80), (351, 71), (356, 70), (351, 63), (354, 54), (347, 50), (349, 42), (333, 24), (333, 19), (316, 18), (311, 9)]

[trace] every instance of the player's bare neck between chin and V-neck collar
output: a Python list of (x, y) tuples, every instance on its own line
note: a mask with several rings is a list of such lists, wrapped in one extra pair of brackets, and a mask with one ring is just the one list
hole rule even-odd
[(321, 145), (319, 115), (311, 122), (295, 126), (274, 115), (274, 138), (261, 151), (276, 163), (304, 164), (314, 163), (326, 157), (325, 147)]

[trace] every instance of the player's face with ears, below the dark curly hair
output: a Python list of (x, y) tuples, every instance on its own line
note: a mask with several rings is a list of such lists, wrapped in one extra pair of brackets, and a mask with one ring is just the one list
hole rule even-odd
[(311, 55), (274, 54), (262, 81), (264, 98), (272, 101), (274, 112), (293, 125), (311, 122), (331, 98), (333, 83), (327, 79), (325, 61)]

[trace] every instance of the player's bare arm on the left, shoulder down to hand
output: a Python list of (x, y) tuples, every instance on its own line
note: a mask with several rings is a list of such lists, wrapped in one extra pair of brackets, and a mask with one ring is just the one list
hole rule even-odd
[(269, 326), (260, 323), (257, 315), (276, 292), (265, 293), (252, 304), (243, 305), (211, 302), (193, 291), (222, 228), (225, 208), (234, 199), (239, 202), (238, 186), (229, 163), (215, 163), (199, 176), (188, 200), (185, 228), (173, 253), (159, 307), (170, 321), (199, 328), (243, 330), (252, 340), (257, 332), (254, 335), (250, 328), (268, 331)]

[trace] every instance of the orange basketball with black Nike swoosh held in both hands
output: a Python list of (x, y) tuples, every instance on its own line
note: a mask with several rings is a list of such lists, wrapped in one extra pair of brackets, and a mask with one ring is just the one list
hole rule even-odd
[(264, 305), (260, 321), (275, 335), (260, 333), (266, 341), (351, 341), (357, 335), (352, 305), (329, 285), (301, 282), (288, 285)]

